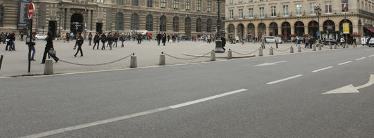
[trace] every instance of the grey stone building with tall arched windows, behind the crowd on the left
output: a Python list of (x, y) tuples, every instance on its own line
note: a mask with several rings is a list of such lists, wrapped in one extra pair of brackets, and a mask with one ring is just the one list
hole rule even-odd
[[(0, 32), (25, 32), (19, 23), (19, 2), (0, 1)], [(26, 0), (28, 1), (28, 0)], [(66, 32), (157, 31), (195, 36), (214, 33), (217, 0), (33, 0), (33, 30)], [(224, 11), (224, 1), (221, 11)], [(222, 12), (224, 19), (224, 12)]]

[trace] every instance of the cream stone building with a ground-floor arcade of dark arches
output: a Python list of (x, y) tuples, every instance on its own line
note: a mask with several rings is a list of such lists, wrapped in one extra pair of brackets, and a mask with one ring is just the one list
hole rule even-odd
[[(321, 9), (318, 17), (316, 8)], [(309, 34), (337, 39), (373, 35), (373, 0), (228, 0), (226, 33), (244, 39), (263, 35), (291, 39)], [(343, 25), (349, 24), (349, 34)], [(347, 30), (346, 30), (347, 32)]]

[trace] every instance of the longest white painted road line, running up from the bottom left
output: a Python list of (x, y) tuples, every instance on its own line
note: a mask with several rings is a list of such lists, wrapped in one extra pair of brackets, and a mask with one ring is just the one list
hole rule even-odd
[(92, 127), (92, 126), (98, 126), (98, 125), (102, 125), (102, 124), (112, 123), (114, 121), (121, 121), (121, 120), (130, 119), (130, 118), (134, 118), (134, 117), (139, 117), (139, 116), (143, 116), (143, 115), (150, 115), (152, 113), (161, 112), (161, 111), (164, 111), (164, 110), (170, 110), (170, 109), (175, 109), (175, 108), (181, 108), (181, 107), (184, 107), (184, 106), (190, 106), (190, 105), (195, 104), (195, 103), (200, 103), (200, 102), (203, 102), (203, 101), (208, 101), (208, 100), (211, 100), (211, 99), (216, 99), (216, 98), (224, 97), (224, 96), (227, 96), (227, 95), (233, 95), (235, 93), (244, 92), (244, 91), (247, 91), (247, 89), (234, 90), (232, 92), (226, 92), (226, 93), (222, 93), (220, 95), (215, 95), (215, 96), (212, 96), (212, 97), (206, 97), (206, 98), (203, 98), (203, 99), (197, 99), (195, 101), (188, 101), (186, 103), (180, 103), (180, 104), (177, 104), (175, 106), (166, 106), (166, 107), (157, 108), (157, 109), (154, 109), (154, 110), (147, 110), (147, 111), (143, 111), (143, 112), (134, 113), (134, 114), (131, 114), (131, 115), (124, 115), (124, 116), (121, 116), (121, 117), (114, 117), (114, 118), (110, 118), (110, 119), (94, 121), (94, 122), (87, 123), (87, 124), (80, 124), (80, 125), (77, 125), (77, 126), (70, 126), (70, 127), (60, 128), (60, 129), (56, 129), (56, 130), (50, 130), (50, 131), (41, 132), (41, 133), (34, 134), (34, 135), (27, 135), (27, 136), (19, 137), (19, 138), (40, 138), (40, 137), (47, 137), (47, 136), (51, 136), (51, 135), (57, 135), (57, 134), (60, 134), (60, 133), (63, 133), (63, 132), (69, 132), (69, 131), (78, 130), (78, 129), (82, 129), (82, 128), (89, 128), (89, 127)]

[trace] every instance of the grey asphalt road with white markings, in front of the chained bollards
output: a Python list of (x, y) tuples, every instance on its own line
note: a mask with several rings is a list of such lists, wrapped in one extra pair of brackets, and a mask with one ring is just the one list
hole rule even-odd
[(351, 48), (0, 79), (0, 137), (373, 137), (374, 85), (322, 95), (367, 83), (373, 55)]

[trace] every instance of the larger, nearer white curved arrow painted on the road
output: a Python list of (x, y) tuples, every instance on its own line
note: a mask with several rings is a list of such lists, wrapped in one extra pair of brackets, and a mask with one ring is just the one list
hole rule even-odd
[(362, 86), (353, 86), (353, 84), (350, 84), (348, 86), (344, 86), (341, 88), (337, 88), (335, 90), (330, 90), (328, 92), (322, 93), (322, 94), (338, 94), (338, 93), (358, 93), (358, 89), (365, 88), (367, 86), (371, 86), (374, 84), (374, 75), (370, 75), (370, 79), (368, 83), (362, 85)]

